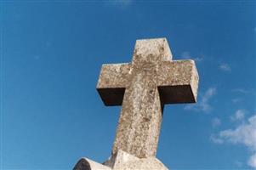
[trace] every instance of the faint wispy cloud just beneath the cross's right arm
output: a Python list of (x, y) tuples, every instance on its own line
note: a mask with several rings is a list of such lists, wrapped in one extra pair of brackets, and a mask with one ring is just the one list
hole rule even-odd
[(185, 110), (191, 111), (202, 111), (209, 112), (212, 111), (212, 106), (209, 104), (209, 100), (217, 93), (216, 88), (208, 88), (208, 90), (199, 96), (199, 100), (194, 105), (186, 105)]

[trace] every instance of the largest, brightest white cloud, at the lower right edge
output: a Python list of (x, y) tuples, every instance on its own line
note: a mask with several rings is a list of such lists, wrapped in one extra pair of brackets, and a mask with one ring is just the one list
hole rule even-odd
[(235, 129), (220, 131), (217, 135), (211, 135), (210, 139), (216, 144), (244, 144), (253, 152), (247, 164), (256, 169), (256, 114)]

